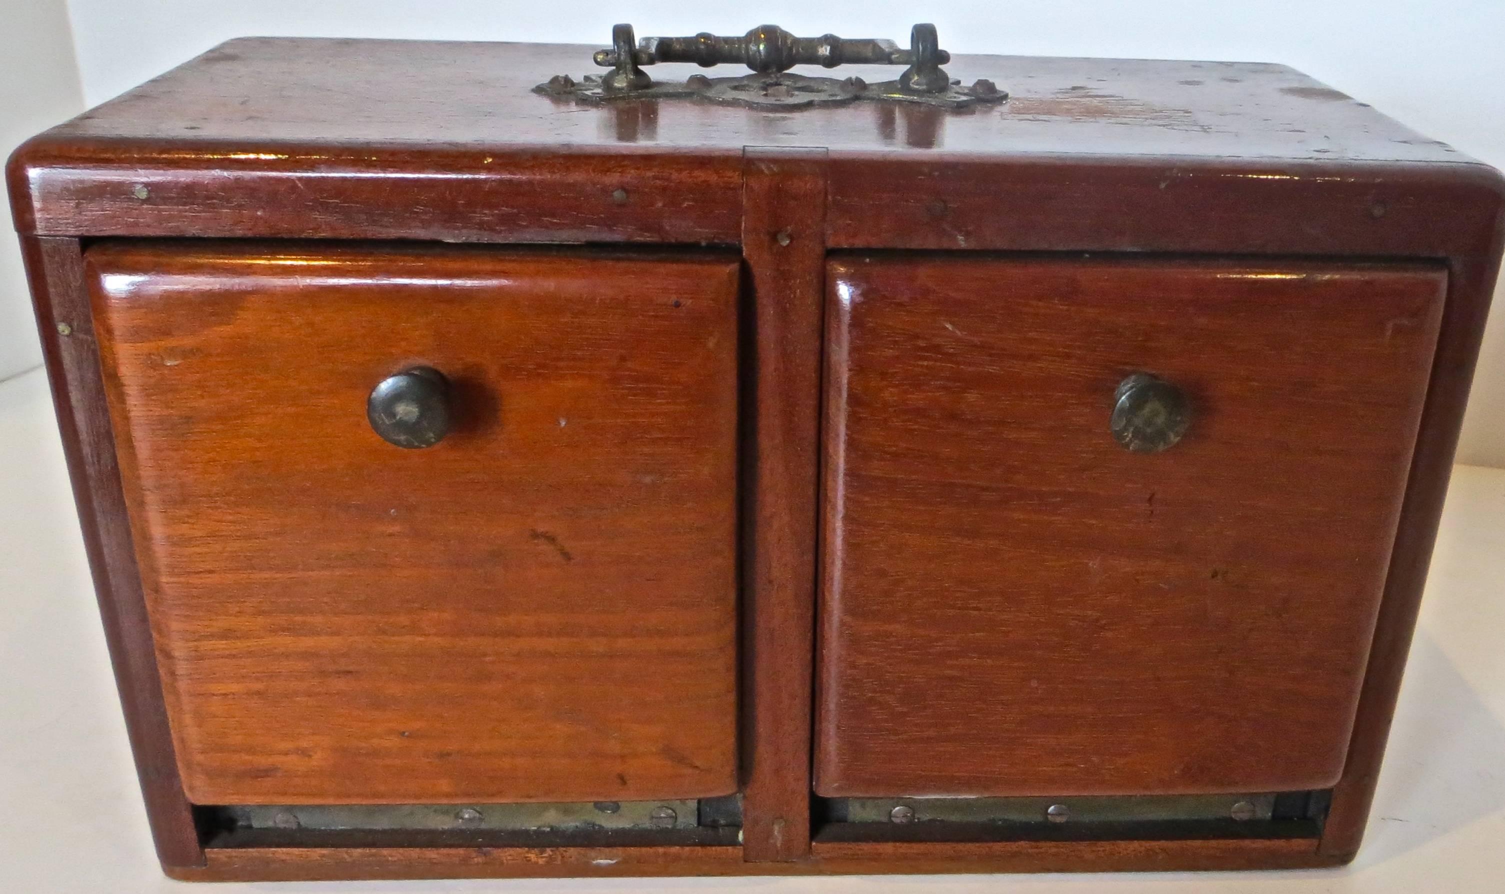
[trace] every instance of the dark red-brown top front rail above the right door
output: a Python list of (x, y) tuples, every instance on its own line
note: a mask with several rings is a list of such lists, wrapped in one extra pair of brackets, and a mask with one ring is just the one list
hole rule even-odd
[[(832, 248), (1442, 257), (1493, 232), (1482, 164), (1246, 157), (832, 158)], [(1448, 220), (1449, 226), (1436, 226)]]

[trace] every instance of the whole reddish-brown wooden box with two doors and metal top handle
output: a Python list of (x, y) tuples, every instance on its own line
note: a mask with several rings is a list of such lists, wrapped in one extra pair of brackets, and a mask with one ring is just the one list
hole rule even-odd
[[(634, 59), (840, 60), (739, 41)], [(1351, 859), (1500, 175), (1278, 65), (588, 57), (232, 41), (11, 160), (166, 871)]]

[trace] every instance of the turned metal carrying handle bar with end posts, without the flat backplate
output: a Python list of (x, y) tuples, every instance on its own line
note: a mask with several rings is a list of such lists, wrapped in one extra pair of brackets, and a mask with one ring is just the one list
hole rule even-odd
[(898, 75), (905, 90), (936, 93), (951, 83), (941, 71), (941, 65), (951, 62), (951, 54), (941, 48), (933, 24), (911, 29), (909, 50), (873, 38), (796, 38), (778, 26), (759, 26), (740, 38), (700, 33), (694, 38), (643, 38), (640, 44), (634, 39), (632, 26), (619, 24), (611, 29), (611, 50), (597, 50), (593, 59), (596, 65), (614, 69), (602, 78), (613, 90), (647, 87), (653, 81), (638, 66), (659, 62), (694, 62), (704, 68), (742, 63), (759, 74), (789, 71), (796, 65), (908, 65)]

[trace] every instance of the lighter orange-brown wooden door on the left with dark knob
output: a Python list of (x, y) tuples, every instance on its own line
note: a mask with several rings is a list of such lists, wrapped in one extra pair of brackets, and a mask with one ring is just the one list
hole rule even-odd
[(734, 256), (87, 259), (191, 801), (736, 790)]

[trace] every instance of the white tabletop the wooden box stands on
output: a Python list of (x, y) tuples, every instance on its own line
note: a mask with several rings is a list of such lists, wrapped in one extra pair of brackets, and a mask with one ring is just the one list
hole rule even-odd
[[(217, 885), (423, 891), (1505, 891), (1505, 470), (1457, 467), (1368, 840), (1347, 868)], [(47, 382), (0, 382), (0, 891), (185, 891), (152, 856)]]

